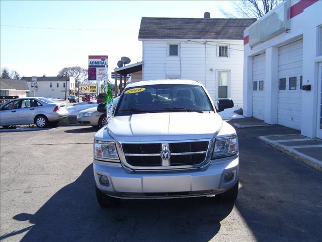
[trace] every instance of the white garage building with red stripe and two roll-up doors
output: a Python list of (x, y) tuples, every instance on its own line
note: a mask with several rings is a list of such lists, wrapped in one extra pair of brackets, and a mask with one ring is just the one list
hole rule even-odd
[(282, 2), (244, 44), (244, 115), (322, 138), (322, 1)]

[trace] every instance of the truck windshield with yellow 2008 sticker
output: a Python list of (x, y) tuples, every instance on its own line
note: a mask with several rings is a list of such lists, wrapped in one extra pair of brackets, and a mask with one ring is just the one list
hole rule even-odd
[(127, 88), (115, 116), (146, 112), (209, 112), (210, 100), (199, 85), (158, 84)]

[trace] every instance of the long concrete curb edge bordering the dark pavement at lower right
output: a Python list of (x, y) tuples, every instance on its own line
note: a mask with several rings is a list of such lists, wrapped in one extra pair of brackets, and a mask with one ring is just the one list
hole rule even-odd
[(274, 147), (278, 151), (281, 151), (289, 156), (292, 156), (293, 158), (307, 164), (308, 166), (314, 168), (315, 170), (322, 172), (322, 161), (317, 160), (313, 157), (310, 157), (308, 155), (305, 155), (297, 150), (294, 150), (288, 146), (281, 145), (277, 141), (272, 141), (267, 139), (265, 136), (259, 136), (259, 140), (263, 141), (264, 143)]

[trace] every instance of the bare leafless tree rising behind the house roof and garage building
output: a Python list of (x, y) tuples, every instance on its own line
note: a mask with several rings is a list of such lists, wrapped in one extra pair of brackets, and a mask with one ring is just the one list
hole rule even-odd
[(256, 18), (259, 19), (271, 11), (282, 0), (241, 0), (233, 1), (231, 11), (219, 8), (219, 11), (227, 18)]

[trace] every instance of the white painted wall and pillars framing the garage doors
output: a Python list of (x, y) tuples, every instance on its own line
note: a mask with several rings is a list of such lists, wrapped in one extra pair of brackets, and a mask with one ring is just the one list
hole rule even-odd
[[(291, 1), (291, 6), (301, 1)], [(286, 4), (286, 1), (284, 3)], [(257, 44), (251, 48), (249, 44), (244, 45), (244, 115), (252, 116), (252, 89), (250, 88), (250, 81), (252, 81), (252, 69), (251, 59), (252, 56), (267, 52), (268, 49), (275, 49), (270, 55), (266, 56), (266, 64), (270, 65), (266, 67), (266, 82), (276, 83), (276, 63), (278, 63), (278, 55), (276, 49), (282, 45), (294, 42), (297, 39), (303, 38), (303, 61), (302, 61), (302, 75), (303, 85), (311, 85), (311, 91), (301, 91), (301, 134), (307, 137), (316, 137), (317, 129), (317, 75), (318, 75), (318, 63), (322, 62), (322, 56), (317, 54), (317, 46), (322, 41), (318, 38), (318, 26), (322, 25), (322, 1), (317, 1), (311, 6), (306, 7), (302, 13), (292, 17), (290, 19), (290, 29), (287, 32), (283, 32), (263, 43)], [(244, 31), (244, 37), (249, 35), (249, 28)], [(272, 79), (274, 78), (274, 79)], [(270, 103), (269, 107), (265, 107), (265, 122), (269, 124), (276, 124), (277, 117), (273, 117), (277, 112), (277, 93), (278, 86), (271, 85), (272, 89), (269, 90), (270, 94), (274, 96), (273, 104)], [(267, 92), (265, 92), (267, 93)], [(268, 97), (265, 96), (267, 99)], [(267, 104), (267, 101), (265, 101)], [(268, 104), (267, 104), (268, 105)]]

